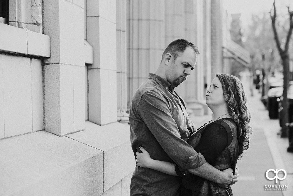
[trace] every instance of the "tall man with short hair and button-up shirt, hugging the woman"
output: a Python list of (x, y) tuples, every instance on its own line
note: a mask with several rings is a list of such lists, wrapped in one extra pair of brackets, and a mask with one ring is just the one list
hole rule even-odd
[[(134, 155), (143, 146), (151, 158), (176, 163), (183, 174), (188, 171), (228, 186), (238, 174), (232, 176), (231, 169), (221, 172), (212, 167), (186, 142), (195, 128), (184, 101), (174, 91), (194, 69), (198, 55), (197, 47), (184, 39), (167, 46), (155, 74), (150, 73), (133, 96), (129, 111), (131, 146)], [(136, 166), (130, 194), (178, 195), (179, 183), (180, 177)]]

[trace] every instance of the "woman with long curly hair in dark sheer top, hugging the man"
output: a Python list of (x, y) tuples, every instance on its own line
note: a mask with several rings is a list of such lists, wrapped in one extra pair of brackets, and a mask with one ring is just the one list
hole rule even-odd
[[(188, 143), (217, 169), (235, 171), (237, 159), (248, 149), (252, 133), (241, 81), (229, 74), (217, 74), (207, 90), (206, 104), (213, 112), (213, 119), (197, 129)], [(177, 165), (153, 160), (143, 147), (140, 149), (143, 153), (136, 152), (138, 166), (182, 176), (179, 195), (232, 195), (231, 187), (222, 188), (193, 174), (183, 176)]]

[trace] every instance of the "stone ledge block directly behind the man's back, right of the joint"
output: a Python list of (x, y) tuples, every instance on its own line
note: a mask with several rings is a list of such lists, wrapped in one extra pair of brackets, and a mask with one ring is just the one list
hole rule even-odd
[(87, 121), (85, 131), (67, 137), (104, 152), (104, 191), (129, 175), (136, 166), (129, 125), (111, 123), (99, 126)]

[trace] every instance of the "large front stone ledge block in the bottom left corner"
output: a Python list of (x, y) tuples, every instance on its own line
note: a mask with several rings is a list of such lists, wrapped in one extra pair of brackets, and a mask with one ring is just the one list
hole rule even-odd
[(40, 131), (0, 141), (1, 195), (99, 195), (103, 152)]

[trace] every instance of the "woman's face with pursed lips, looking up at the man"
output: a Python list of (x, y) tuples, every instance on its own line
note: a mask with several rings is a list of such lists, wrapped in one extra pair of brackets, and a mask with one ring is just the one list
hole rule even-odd
[(214, 78), (206, 92), (206, 105), (209, 107), (226, 104), (223, 88), (218, 77)]

